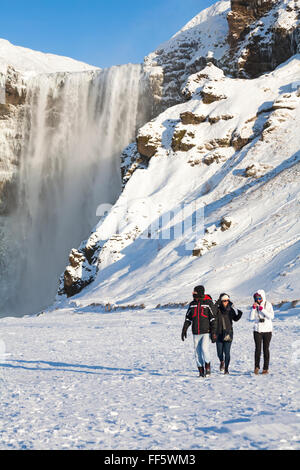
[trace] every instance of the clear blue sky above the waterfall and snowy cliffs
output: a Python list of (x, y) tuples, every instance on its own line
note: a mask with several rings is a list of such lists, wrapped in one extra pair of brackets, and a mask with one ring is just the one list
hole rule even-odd
[(99, 67), (138, 63), (215, 1), (1, 2), (0, 37)]

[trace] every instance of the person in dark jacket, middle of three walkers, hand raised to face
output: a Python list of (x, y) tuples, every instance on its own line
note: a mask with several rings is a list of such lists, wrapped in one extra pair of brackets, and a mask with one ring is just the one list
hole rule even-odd
[(237, 322), (243, 315), (236, 310), (229, 295), (221, 294), (216, 302), (216, 340), (217, 354), (220, 360), (220, 371), (229, 374), (230, 351), (233, 341), (233, 322)]

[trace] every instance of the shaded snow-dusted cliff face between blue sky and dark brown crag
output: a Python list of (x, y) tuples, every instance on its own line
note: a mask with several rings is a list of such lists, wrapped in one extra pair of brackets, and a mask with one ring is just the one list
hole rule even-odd
[(209, 63), (220, 65), (229, 49), (228, 7), (229, 2), (223, 1), (204, 10), (145, 58), (144, 70), (155, 96), (153, 115), (183, 101), (181, 89), (192, 74)]

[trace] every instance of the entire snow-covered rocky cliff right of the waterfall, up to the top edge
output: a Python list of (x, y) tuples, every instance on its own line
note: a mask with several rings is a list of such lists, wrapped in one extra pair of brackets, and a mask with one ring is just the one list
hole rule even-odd
[(244, 3), (218, 2), (146, 58), (163, 112), (124, 150), (122, 195), (72, 253), (58, 299), (92, 268), (78, 305), (182, 302), (195, 283), (299, 297), (298, 2)]

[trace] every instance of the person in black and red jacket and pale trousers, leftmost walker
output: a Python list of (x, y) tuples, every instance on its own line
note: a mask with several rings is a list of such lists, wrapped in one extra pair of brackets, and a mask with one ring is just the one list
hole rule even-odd
[(192, 325), (195, 358), (200, 377), (211, 374), (210, 335), (215, 336), (215, 307), (212, 298), (205, 295), (203, 286), (197, 286), (193, 292), (194, 300), (190, 303), (183, 325), (181, 339), (187, 337), (187, 330)]

